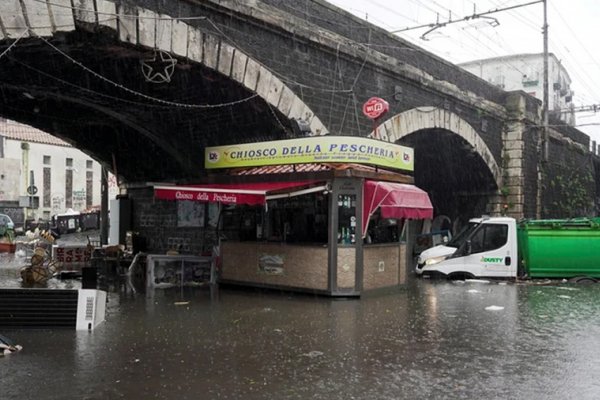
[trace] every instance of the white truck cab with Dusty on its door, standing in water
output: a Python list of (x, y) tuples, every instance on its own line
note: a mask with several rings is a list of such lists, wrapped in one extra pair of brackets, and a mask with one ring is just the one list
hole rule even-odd
[(460, 247), (443, 261), (424, 265), (425, 276), (514, 278), (518, 269), (517, 224), (514, 218), (483, 218)]

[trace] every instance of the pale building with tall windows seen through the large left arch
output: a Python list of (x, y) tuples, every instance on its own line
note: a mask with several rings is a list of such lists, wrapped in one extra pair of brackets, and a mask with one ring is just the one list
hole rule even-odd
[[(67, 142), (0, 119), (0, 213), (15, 224), (99, 208), (100, 164)], [(109, 174), (109, 188), (117, 184)]]

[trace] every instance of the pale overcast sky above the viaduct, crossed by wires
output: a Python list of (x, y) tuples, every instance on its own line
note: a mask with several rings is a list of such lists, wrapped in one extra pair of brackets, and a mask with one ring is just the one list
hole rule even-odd
[[(476, 12), (527, 4), (533, 0), (329, 0), (388, 31), (445, 22)], [(439, 15), (439, 16), (438, 16)], [(398, 33), (438, 56), (460, 63), (487, 57), (543, 51), (543, 5), (532, 4), (439, 28)], [(548, 0), (549, 51), (563, 63), (572, 79), (575, 106), (600, 105), (600, 1)], [(600, 144), (600, 111), (577, 113), (577, 125)]]

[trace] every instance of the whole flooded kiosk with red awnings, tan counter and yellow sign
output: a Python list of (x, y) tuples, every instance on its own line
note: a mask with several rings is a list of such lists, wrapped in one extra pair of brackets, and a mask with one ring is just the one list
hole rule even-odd
[[(412, 170), (412, 149), (373, 139), (337, 138), (344, 148), (355, 144), (351, 156), (359, 149), (378, 151), (383, 162), (398, 163), (399, 158), (404, 169)], [(321, 143), (318, 150), (336, 146), (324, 139), (236, 145), (235, 151), (245, 155), (249, 150), (244, 146), (266, 151), (273, 143), (283, 154), (289, 142), (300, 142), (296, 150), (306, 151), (301, 157), (285, 157), (287, 164), (270, 156), (266, 162), (218, 166), (234, 169), (211, 175), (209, 184), (154, 186), (154, 195), (220, 204), (219, 282), (331, 296), (360, 296), (367, 290), (404, 284), (410, 248), (407, 220), (432, 218), (427, 193), (411, 184), (412, 176), (382, 169), (377, 157), (368, 159), (369, 166), (319, 162), (323, 151), (313, 151), (311, 162), (297, 161), (307, 161), (306, 153), (314, 150), (314, 143)], [(231, 149), (223, 147), (207, 148), (207, 168), (211, 158), (214, 163), (222, 154), (231, 155)], [(345, 157), (338, 155), (335, 160), (356, 158)], [(246, 168), (235, 168), (240, 166)], [(402, 169), (395, 164), (383, 166)]]

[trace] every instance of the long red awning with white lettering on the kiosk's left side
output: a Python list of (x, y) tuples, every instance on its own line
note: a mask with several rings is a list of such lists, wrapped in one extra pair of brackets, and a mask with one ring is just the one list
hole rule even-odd
[(315, 183), (314, 181), (302, 181), (154, 186), (154, 197), (161, 200), (261, 205), (271, 198), (298, 196), (325, 189), (325, 186), (315, 187)]

